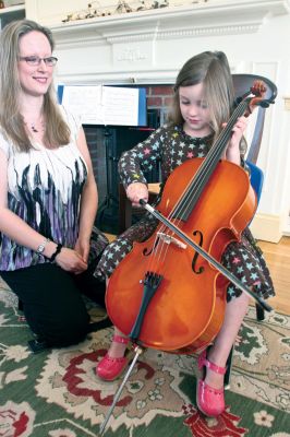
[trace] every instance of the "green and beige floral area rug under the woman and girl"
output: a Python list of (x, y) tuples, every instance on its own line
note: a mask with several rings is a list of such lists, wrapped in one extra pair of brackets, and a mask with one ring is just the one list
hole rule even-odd
[[(92, 318), (104, 317), (88, 304)], [(112, 329), (83, 343), (33, 354), (29, 329), (13, 293), (0, 282), (0, 436), (98, 436), (117, 382), (102, 382), (96, 363)], [(105, 437), (290, 437), (290, 317), (253, 308), (235, 346), (227, 411), (205, 418), (195, 406), (196, 359), (147, 350), (141, 355)]]

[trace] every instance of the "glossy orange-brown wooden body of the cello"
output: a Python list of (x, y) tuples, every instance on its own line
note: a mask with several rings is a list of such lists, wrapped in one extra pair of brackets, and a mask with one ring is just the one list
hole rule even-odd
[[(186, 161), (168, 178), (158, 211), (172, 216), (181, 193), (198, 172), (204, 158)], [(239, 190), (237, 190), (239, 187)], [(240, 238), (256, 209), (247, 173), (219, 161), (203, 196), (186, 220), (173, 218), (178, 227), (220, 261), (227, 245)], [(113, 324), (130, 335), (142, 304), (147, 272), (161, 276), (142, 322), (138, 343), (177, 353), (192, 353), (213, 342), (222, 324), (226, 280), (177, 236), (164, 236), (158, 225), (145, 243), (132, 251), (112, 273), (106, 294)], [(162, 251), (155, 253), (162, 245)]]

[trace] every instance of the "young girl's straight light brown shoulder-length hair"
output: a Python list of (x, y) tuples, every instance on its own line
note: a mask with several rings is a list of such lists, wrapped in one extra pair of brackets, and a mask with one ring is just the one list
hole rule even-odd
[(180, 111), (180, 86), (191, 86), (204, 83), (204, 98), (210, 114), (210, 128), (214, 141), (218, 137), (221, 125), (227, 122), (233, 107), (233, 83), (228, 59), (222, 51), (204, 51), (189, 59), (180, 70), (173, 95), (172, 111), (169, 120), (172, 123), (183, 125)]

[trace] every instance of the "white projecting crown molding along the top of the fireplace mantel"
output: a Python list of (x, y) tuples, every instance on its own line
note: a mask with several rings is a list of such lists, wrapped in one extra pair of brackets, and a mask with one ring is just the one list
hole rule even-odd
[(289, 14), (290, 0), (217, 0), (184, 7), (45, 23), (59, 48), (255, 33), (267, 19)]

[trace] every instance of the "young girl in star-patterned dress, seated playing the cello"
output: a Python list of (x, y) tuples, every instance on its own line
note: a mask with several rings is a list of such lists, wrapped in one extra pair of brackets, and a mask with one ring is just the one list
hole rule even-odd
[[(124, 152), (120, 158), (120, 177), (133, 205), (138, 205), (141, 199), (148, 200), (144, 172), (149, 170), (156, 160), (160, 161), (162, 181), (166, 181), (174, 168), (186, 160), (207, 155), (229, 120), (233, 103), (232, 78), (223, 52), (205, 51), (185, 62), (177, 78), (170, 122), (157, 129), (143, 143)], [(223, 156), (241, 166), (244, 166), (245, 127), (245, 117), (239, 118)], [(146, 240), (157, 225), (155, 217), (146, 215), (125, 231), (107, 247), (96, 274), (109, 279), (118, 263), (131, 251), (133, 243)], [(254, 293), (264, 298), (275, 295), (268, 269), (249, 228), (242, 233), (241, 241), (228, 245), (221, 261)], [(222, 327), (214, 344), (198, 357), (201, 377), (196, 401), (206, 415), (217, 416), (225, 410), (226, 363), (247, 305), (249, 296), (230, 283)], [(100, 378), (113, 380), (123, 371), (128, 364), (124, 356), (128, 341), (116, 329), (111, 346), (97, 366)]]

